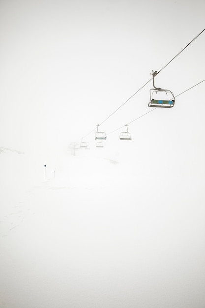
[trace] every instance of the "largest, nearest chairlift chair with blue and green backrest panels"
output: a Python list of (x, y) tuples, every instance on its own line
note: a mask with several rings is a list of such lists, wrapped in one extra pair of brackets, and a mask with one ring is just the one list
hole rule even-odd
[[(170, 90), (164, 90), (161, 88), (156, 88), (154, 86), (154, 76), (157, 75), (157, 71), (152, 71), (150, 74), (153, 78), (153, 88), (150, 89), (150, 102), (148, 104), (149, 107), (163, 107), (163, 108), (171, 108), (175, 105), (175, 96), (173, 92)], [(157, 97), (158, 94), (158, 97)], [(166, 96), (165, 96), (166, 95)], [(159, 97), (160, 96), (160, 97)]]

